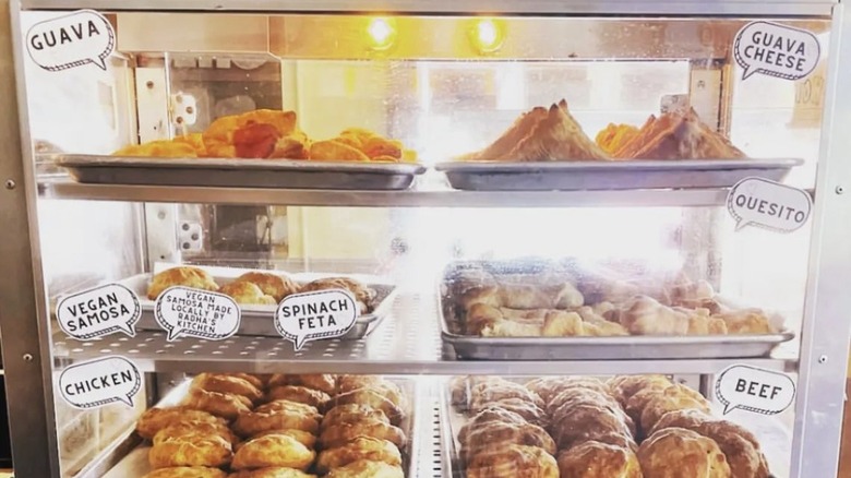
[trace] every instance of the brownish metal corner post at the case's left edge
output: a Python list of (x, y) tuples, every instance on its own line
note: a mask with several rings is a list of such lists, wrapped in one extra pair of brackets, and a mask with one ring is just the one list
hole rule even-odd
[[(36, 183), (22, 148), (23, 69), (14, 49), (20, 8), (0, 0), (0, 337), (15, 476), (59, 476), (51, 354), (37, 240)], [(17, 85), (17, 88), (15, 87)], [(35, 244), (35, 247), (33, 246)]]

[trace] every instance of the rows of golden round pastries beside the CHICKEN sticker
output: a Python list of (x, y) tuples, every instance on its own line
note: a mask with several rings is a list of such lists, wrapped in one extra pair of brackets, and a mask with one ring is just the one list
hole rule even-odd
[(146, 478), (404, 477), (403, 399), (379, 377), (202, 373), (139, 420)]

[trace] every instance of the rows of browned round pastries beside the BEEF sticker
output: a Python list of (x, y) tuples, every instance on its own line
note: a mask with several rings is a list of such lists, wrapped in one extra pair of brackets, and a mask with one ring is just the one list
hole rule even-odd
[(472, 477), (769, 477), (751, 432), (662, 375), (462, 378), (452, 399), (468, 416), (457, 438)]

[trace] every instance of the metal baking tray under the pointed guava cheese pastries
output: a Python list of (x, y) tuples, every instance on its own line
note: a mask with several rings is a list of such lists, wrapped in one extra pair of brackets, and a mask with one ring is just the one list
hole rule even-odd
[(682, 159), (612, 162), (453, 162), (435, 166), (455, 189), (588, 191), (730, 188), (756, 176), (782, 180), (803, 159)]

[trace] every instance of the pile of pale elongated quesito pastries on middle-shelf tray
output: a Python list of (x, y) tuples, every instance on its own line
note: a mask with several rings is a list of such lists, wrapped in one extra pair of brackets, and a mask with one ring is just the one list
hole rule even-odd
[[(453, 276), (446, 295), (457, 332), (483, 337), (771, 334), (759, 309), (729, 309), (706, 282), (626, 280), (554, 271)], [(637, 285), (640, 284), (640, 285)], [(656, 284), (656, 285), (654, 285)]]

